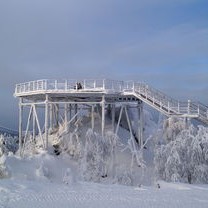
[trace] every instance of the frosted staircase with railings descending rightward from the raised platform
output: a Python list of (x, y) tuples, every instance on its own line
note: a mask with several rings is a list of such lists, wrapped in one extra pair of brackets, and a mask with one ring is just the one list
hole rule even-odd
[(125, 93), (133, 94), (167, 116), (195, 118), (208, 125), (208, 106), (202, 103), (177, 101), (144, 83), (133, 83), (132, 90), (128, 88)]

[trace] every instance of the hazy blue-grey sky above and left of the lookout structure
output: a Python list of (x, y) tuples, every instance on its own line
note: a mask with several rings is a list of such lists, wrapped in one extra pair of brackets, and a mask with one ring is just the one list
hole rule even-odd
[(207, 0), (1, 0), (0, 124), (17, 126), (14, 85), (42, 78), (139, 80), (208, 104), (207, 11)]

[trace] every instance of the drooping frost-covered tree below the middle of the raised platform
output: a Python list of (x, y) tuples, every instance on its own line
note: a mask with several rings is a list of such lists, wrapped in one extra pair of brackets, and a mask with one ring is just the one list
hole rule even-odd
[(98, 182), (112, 171), (117, 138), (114, 134), (105, 137), (89, 129), (86, 133), (81, 172), (85, 180)]

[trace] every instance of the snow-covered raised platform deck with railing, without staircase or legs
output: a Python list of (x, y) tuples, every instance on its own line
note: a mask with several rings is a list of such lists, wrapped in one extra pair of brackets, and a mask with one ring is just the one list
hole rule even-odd
[(109, 102), (111, 99), (128, 100), (135, 97), (124, 92), (132, 91), (132, 82), (112, 80), (37, 80), (17, 84), (16, 97), (28, 100), (45, 100), (45, 94), (51, 99), (70, 100), (75, 102), (97, 102), (105, 95)]

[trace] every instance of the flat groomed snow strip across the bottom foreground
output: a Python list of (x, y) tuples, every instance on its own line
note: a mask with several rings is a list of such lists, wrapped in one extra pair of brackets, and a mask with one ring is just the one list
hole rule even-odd
[(165, 183), (157, 189), (84, 182), (75, 185), (8, 179), (1, 182), (0, 208), (208, 207), (207, 186)]

